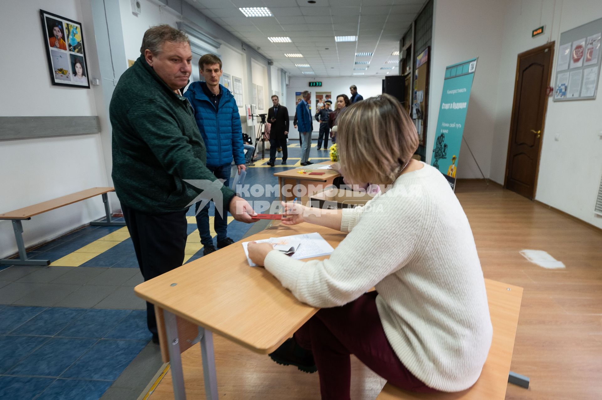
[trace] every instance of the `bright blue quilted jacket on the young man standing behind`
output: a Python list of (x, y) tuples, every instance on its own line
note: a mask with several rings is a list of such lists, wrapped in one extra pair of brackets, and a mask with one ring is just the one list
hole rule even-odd
[(184, 97), (194, 109), (194, 119), (207, 149), (207, 165), (219, 167), (232, 163), (244, 164), (243, 129), (238, 106), (232, 93), (220, 85), (222, 98), (217, 107), (203, 92), (205, 82), (193, 82)]

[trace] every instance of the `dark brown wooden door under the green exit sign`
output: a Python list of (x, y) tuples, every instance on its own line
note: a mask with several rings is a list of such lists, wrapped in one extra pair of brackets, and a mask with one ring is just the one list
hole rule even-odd
[(533, 200), (554, 42), (518, 55), (504, 186)]

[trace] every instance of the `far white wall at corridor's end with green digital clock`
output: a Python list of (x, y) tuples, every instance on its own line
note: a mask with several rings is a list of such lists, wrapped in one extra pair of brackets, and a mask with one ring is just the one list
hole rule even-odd
[[(342, 76), (341, 78), (320, 78), (320, 77), (295, 77), (290, 78), (289, 84), (287, 85), (287, 108), (288, 114), (291, 117), (295, 115), (295, 92), (304, 90), (311, 91), (311, 111), (312, 114), (315, 114), (315, 92), (317, 91), (329, 91), (332, 93), (332, 97), (334, 98), (333, 102), (337, 99), (339, 94), (347, 94), (347, 97), (351, 96), (349, 91), (349, 87), (351, 85), (356, 85), (358, 87), (358, 93), (361, 94), (364, 99), (368, 97), (376, 96), (377, 94), (382, 94), (382, 80), (384, 76)], [(309, 87), (309, 81), (321, 81), (321, 87)], [(333, 104), (333, 108), (335, 105)], [(314, 118), (315, 121), (315, 118)], [(318, 122), (314, 123), (314, 132), (318, 132), (320, 129), (320, 124)], [(299, 139), (299, 131), (293, 127), (293, 123), (291, 122), (290, 132), (288, 135), (291, 139)], [(314, 133), (313, 137), (317, 138), (317, 133)]]

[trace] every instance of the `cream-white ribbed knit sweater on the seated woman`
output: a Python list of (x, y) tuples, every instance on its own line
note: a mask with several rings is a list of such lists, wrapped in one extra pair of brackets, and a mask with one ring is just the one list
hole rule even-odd
[(330, 259), (270, 251), (265, 268), (293, 295), (335, 307), (373, 286), (389, 343), (427, 386), (472, 386), (491, 345), (491, 319), (473, 233), (447, 180), (430, 165), (400, 176), (364, 207), (343, 210), (349, 235)]

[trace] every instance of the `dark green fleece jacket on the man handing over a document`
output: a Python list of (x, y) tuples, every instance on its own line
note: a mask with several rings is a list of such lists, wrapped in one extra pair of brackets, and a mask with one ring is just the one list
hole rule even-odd
[[(202, 192), (184, 180), (217, 178), (206, 167), (205, 143), (185, 97), (178, 96), (143, 57), (123, 73), (110, 105), (113, 126), (113, 183), (120, 202), (148, 214), (182, 211)], [(212, 188), (219, 188), (214, 182)], [(234, 192), (222, 194), (228, 211)], [(208, 193), (208, 192), (206, 192)]]

